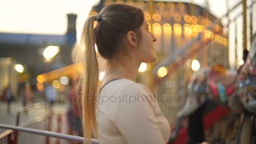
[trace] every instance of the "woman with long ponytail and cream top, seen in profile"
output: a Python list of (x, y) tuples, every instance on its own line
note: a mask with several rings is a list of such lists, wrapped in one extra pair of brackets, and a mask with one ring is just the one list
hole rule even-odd
[[(98, 21), (95, 29), (94, 21)], [(93, 136), (101, 144), (168, 142), (168, 121), (149, 89), (135, 82), (141, 62), (156, 61), (153, 46), (156, 40), (149, 31), (143, 11), (130, 5), (108, 5), (86, 20), (82, 43), (73, 51), (76, 61), (82, 59), (85, 64), (80, 82), (83, 83), (83, 128), (86, 138)], [(95, 43), (108, 65), (100, 91)], [(83, 45), (85, 55), (81, 56)]]

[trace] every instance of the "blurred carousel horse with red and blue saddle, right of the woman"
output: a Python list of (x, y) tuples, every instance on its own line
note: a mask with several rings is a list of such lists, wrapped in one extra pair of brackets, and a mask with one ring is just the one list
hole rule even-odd
[[(188, 91), (186, 103), (178, 113), (176, 128), (168, 144), (175, 141), (184, 118), (198, 113), (198, 110), (207, 101), (215, 101), (229, 109), (245, 110), (255, 115), (256, 35), (253, 37), (251, 50), (245, 63), (238, 70), (225, 69), (221, 65), (214, 65), (212, 68), (201, 68), (190, 78)], [(200, 115), (202, 115), (202, 112)]]

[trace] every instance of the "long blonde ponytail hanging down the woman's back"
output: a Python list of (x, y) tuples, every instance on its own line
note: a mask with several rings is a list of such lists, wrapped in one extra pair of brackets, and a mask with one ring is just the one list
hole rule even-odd
[[(97, 138), (98, 130), (96, 123), (96, 96), (98, 93), (99, 66), (95, 51), (96, 36), (93, 28), (95, 16), (89, 17), (84, 24), (81, 44), (75, 46), (72, 56), (76, 63), (83, 65), (82, 75), (77, 83), (77, 90), (82, 86), (82, 118), (84, 131), (84, 144), (91, 144), (86, 138)], [(85, 48), (83, 49), (83, 46)]]

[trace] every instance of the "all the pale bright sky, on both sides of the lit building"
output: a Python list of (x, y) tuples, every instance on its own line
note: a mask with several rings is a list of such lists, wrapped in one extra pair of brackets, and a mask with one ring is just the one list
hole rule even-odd
[[(206, 2), (206, 0), (170, 1), (195, 3), (202, 7), (205, 7)], [(233, 7), (240, 1), (229, 0), (229, 7)], [(249, 3), (251, 1), (248, 0)], [(226, 2), (227, 0), (208, 0), (210, 12), (220, 18), (227, 12)], [(63, 35), (67, 31), (66, 14), (76, 13), (77, 37), (79, 39), (88, 13), (91, 11), (92, 6), (98, 3), (99, 0), (0, 0), (0, 32)], [(240, 12), (241, 10), (242, 6), (240, 5), (237, 11)], [(242, 35), (243, 23), (241, 17), (238, 19), (237, 24), (237, 29), (240, 29), (238, 35)], [(230, 27), (235, 29), (234, 24), (231, 24)], [(234, 35), (234, 30), (231, 30), (229, 39), (234, 40)], [(243, 51), (242, 38), (238, 41), (238, 45), (240, 47), (239, 51)], [(230, 43), (229, 47), (234, 48), (234, 43)], [(231, 56), (229, 59), (234, 59), (234, 49), (229, 51), (229, 55)], [(241, 59), (241, 55), (239, 55), (239, 59)]]

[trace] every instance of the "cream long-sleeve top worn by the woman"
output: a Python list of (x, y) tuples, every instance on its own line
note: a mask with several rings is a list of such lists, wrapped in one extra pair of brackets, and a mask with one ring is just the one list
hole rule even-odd
[(166, 144), (170, 125), (149, 89), (131, 80), (113, 80), (97, 101), (100, 144)]

